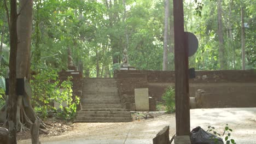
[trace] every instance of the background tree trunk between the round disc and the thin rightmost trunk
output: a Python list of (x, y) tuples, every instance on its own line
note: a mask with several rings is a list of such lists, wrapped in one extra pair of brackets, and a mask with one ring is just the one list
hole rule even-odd
[(219, 39), (219, 65), (220, 69), (226, 69), (224, 59), (224, 38), (222, 23), (222, 0), (218, 0), (218, 39)]

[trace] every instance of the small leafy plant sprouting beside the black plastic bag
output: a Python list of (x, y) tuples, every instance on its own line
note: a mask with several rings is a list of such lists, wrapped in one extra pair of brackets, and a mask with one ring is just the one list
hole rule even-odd
[[(233, 130), (229, 128), (229, 124), (225, 124), (225, 129), (223, 130), (223, 135), (222, 136), (225, 137), (226, 144), (230, 144), (230, 142), (233, 143), (233, 144), (236, 144), (234, 139), (230, 139), (232, 131)], [(208, 126), (207, 132), (211, 132), (216, 136), (220, 136), (220, 134), (216, 132), (215, 128), (211, 127), (211, 126)], [(212, 137), (212, 138), (214, 138), (214, 137)], [(217, 143), (218, 140), (214, 139), (214, 142)]]

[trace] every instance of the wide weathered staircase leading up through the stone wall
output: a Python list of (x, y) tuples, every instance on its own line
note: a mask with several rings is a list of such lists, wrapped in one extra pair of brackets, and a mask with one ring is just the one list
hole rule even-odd
[(82, 110), (75, 122), (130, 122), (131, 112), (123, 109), (115, 79), (83, 79)]

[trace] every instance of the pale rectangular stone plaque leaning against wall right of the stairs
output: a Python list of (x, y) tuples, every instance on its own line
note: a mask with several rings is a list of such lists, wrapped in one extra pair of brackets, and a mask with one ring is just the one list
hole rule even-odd
[(149, 111), (148, 88), (135, 88), (136, 111)]

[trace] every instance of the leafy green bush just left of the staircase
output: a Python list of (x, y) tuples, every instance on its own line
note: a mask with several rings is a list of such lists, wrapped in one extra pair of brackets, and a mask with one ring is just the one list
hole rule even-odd
[[(53, 116), (65, 119), (73, 119), (79, 104), (77, 96), (72, 99), (72, 77), (60, 83), (57, 71), (42, 70), (39, 74), (33, 75), (31, 80), (33, 96), (32, 106), (43, 119)], [(59, 107), (54, 107), (54, 103)]]

